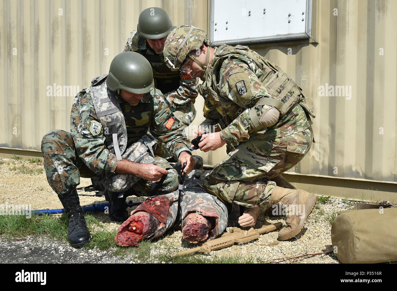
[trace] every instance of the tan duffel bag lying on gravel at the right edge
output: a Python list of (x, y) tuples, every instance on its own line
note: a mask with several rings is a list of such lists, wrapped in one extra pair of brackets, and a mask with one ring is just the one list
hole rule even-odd
[(397, 261), (397, 208), (341, 211), (332, 223), (331, 241), (345, 264)]

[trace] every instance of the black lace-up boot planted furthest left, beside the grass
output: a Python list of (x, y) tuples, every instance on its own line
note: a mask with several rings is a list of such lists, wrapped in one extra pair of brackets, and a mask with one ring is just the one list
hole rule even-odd
[(68, 190), (65, 194), (58, 195), (69, 217), (67, 239), (72, 247), (79, 248), (91, 239), (90, 232), (85, 223), (83, 209), (80, 206), (79, 195), (76, 189)]

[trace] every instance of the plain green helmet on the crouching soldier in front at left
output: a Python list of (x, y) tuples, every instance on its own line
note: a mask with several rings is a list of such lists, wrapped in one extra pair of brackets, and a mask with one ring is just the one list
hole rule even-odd
[(123, 89), (135, 94), (148, 93), (154, 87), (152, 66), (135, 51), (119, 53), (110, 64), (106, 85), (112, 91)]

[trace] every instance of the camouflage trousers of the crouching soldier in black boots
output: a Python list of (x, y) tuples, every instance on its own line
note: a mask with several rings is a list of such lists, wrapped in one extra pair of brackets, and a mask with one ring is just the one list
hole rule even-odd
[[(147, 151), (147, 148), (142, 149), (141, 143), (138, 141), (125, 150), (123, 158), (135, 160), (137, 153), (143, 151)], [(44, 135), (41, 142), (41, 152), (44, 158), (44, 169), (48, 184), (58, 195), (76, 188), (80, 184), (80, 177), (100, 177), (79, 158), (73, 136), (69, 132), (54, 130)], [(159, 192), (170, 193), (178, 187), (178, 174), (164, 158), (158, 156), (153, 158), (148, 153), (140, 163), (156, 164), (168, 170), (168, 175), (158, 190)], [(104, 186), (113, 192), (124, 192), (132, 187), (134, 191), (132, 194), (137, 196), (148, 196), (152, 192), (152, 181), (146, 181), (134, 175), (106, 173)]]

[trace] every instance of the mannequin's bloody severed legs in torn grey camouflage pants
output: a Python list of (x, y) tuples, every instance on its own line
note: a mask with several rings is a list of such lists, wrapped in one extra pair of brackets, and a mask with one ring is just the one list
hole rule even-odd
[[(191, 243), (212, 240), (227, 226), (227, 207), (200, 186), (203, 170), (193, 170), (181, 191), (146, 200), (139, 205), (120, 227), (116, 242), (121, 246), (138, 245), (144, 238), (158, 238), (180, 222), (182, 236)], [(200, 181), (200, 182), (199, 182)]]

